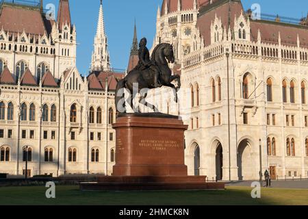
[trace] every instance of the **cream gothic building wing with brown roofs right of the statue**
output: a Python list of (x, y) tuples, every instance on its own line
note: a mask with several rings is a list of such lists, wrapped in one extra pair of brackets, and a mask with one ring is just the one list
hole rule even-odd
[(163, 1), (154, 46), (175, 47), (190, 175), (259, 179), (261, 165), (308, 177), (307, 20), (255, 19), (240, 0)]

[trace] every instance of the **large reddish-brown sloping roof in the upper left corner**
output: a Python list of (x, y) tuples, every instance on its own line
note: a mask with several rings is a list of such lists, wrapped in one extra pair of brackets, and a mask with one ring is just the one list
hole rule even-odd
[[(34, 22), (35, 21), (35, 22)], [(50, 23), (51, 21), (45, 21)], [(44, 35), (46, 31), (45, 23), (40, 13), (40, 8), (31, 8), (23, 5), (14, 5), (3, 3), (0, 14), (0, 28), (3, 27), (5, 31), (14, 33)]]

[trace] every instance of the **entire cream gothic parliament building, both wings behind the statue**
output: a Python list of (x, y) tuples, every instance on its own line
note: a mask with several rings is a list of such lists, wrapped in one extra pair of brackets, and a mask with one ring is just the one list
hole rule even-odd
[[(244, 10), (240, 0), (163, 0), (154, 26), (153, 47), (173, 45), (182, 83), (180, 106), (172, 92), (155, 104), (189, 127), (189, 175), (308, 178), (308, 16)], [(0, 172), (22, 175), (28, 160), (31, 176), (112, 175), (114, 90), (125, 74), (110, 66), (102, 4), (87, 77), (76, 37), (68, 0), (56, 19), (42, 2), (1, 3)], [(136, 64), (135, 27), (128, 71)]]

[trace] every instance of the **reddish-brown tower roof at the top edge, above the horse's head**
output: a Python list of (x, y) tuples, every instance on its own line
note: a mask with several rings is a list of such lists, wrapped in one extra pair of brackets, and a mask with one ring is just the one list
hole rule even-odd
[[(205, 5), (209, 2), (209, 0), (180, 0), (181, 10), (192, 10), (194, 9), (194, 1), (197, 3), (197, 8), (200, 8), (202, 5)], [(216, 1), (216, 0), (213, 0)], [(165, 7), (167, 3), (168, 12), (177, 12), (177, 6), (179, 0), (164, 0), (162, 3), (162, 15), (166, 14)]]

